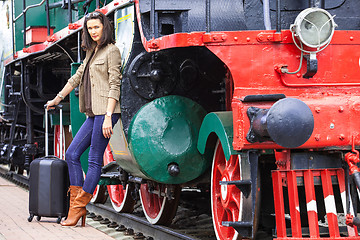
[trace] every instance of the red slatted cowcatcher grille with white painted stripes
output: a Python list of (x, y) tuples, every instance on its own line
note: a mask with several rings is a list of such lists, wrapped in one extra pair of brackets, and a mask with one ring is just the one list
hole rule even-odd
[[(314, 177), (321, 179), (321, 185), (324, 198), (316, 199)], [(300, 180), (300, 181), (299, 181)], [(303, 184), (302, 181), (303, 180)], [(338, 213), (336, 211), (335, 197), (332, 181), (337, 180), (341, 203), (343, 209), (346, 209), (346, 193), (345, 193), (345, 175), (341, 168), (336, 169), (316, 169), (316, 170), (275, 170), (272, 171), (272, 182), (274, 191), (274, 206), (276, 220), (276, 235), (274, 239), (352, 239), (359, 240), (356, 227), (339, 227)], [(308, 226), (301, 226), (300, 205), (298, 186), (304, 186), (306, 199), (306, 213), (308, 218)], [(285, 203), (283, 188), (287, 188), (288, 203)], [(318, 202), (317, 202), (318, 201)], [(319, 228), (317, 203), (322, 201), (325, 206), (328, 227)], [(285, 222), (285, 205), (290, 212), (291, 231), (287, 231)], [(352, 208), (351, 208), (352, 209)], [(344, 211), (346, 215), (346, 210)], [(345, 219), (344, 222), (345, 224)], [(304, 231), (304, 229), (308, 230)], [(346, 230), (347, 231), (346, 231)], [(325, 230), (325, 231), (323, 231)], [(345, 232), (342, 232), (345, 230)], [(341, 231), (341, 232), (340, 232)], [(327, 236), (322, 236), (326, 232)], [(306, 237), (304, 237), (307, 235)]]

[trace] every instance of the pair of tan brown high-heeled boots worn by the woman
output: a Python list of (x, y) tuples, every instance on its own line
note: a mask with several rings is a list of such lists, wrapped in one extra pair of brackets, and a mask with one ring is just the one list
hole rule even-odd
[(81, 226), (85, 227), (86, 205), (90, 202), (92, 194), (85, 192), (82, 188), (76, 196), (72, 208), (69, 210), (68, 217), (61, 222), (62, 226), (75, 226), (82, 217)]

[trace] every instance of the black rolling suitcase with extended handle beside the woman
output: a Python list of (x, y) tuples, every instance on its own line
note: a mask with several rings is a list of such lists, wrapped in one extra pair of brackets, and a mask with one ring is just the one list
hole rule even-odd
[[(60, 139), (62, 140), (62, 107), (60, 106)], [(63, 144), (60, 143), (62, 148)], [(34, 216), (57, 217), (57, 223), (67, 215), (69, 199), (69, 174), (66, 161), (48, 156), (48, 113), (45, 110), (45, 157), (34, 159), (30, 164), (28, 221)], [(62, 156), (62, 149), (60, 149)]]

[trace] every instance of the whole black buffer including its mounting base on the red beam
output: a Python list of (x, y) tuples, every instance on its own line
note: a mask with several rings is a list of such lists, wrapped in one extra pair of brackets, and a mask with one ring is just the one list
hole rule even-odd
[(270, 109), (250, 107), (251, 122), (246, 139), (250, 143), (273, 141), (285, 148), (303, 145), (314, 130), (314, 117), (303, 101), (284, 98)]

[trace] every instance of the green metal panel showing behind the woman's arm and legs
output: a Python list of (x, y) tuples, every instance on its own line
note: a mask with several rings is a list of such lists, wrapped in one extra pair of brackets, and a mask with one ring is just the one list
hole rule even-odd
[[(71, 64), (71, 75), (74, 75), (80, 63)], [(81, 125), (85, 122), (86, 116), (79, 110), (79, 97), (75, 95), (75, 89), (70, 93), (70, 120), (71, 132), (73, 137), (79, 131)], [(83, 171), (86, 173), (88, 169), (89, 148), (81, 155), (80, 162)]]

